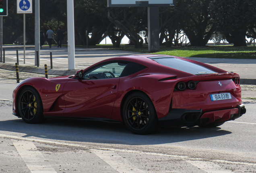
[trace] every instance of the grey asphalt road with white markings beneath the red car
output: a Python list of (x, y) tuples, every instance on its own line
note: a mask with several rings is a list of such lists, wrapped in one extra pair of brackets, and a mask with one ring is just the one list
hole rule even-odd
[(48, 119), (26, 124), (11, 114), (16, 85), (11, 77), (0, 79), (0, 173), (256, 172), (254, 100), (245, 100), (245, 115), (220, 127), (134, 135), (122, 123)]

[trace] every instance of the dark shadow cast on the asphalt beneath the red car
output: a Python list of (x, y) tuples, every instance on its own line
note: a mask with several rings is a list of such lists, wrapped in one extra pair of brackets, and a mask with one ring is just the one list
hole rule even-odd
[(151, 135), (135, 135), (123, 123), (47, 119), (42, 124), (27, 124), (22, 119), (0, 121), (0, 131), (24, 133), (23, 137), (126, 145), (157, 145), (206, 139), (231, 134), (221, 127), (163, 128)]

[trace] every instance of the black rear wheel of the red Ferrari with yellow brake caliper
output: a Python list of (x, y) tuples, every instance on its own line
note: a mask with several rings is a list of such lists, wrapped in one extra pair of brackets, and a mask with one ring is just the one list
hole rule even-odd
[(124, 101), (122, 117), (126, 127), (134, 134), (154, 133), (159, 127), (151, 99), (140, 92), (132, 93)]

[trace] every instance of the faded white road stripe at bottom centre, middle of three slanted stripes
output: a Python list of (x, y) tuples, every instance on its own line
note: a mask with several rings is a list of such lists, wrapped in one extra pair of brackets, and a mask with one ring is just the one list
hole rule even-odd
[(134, 167), (132, 163), (115, 153), (115, 151), (97, 149), (91, 149), (91, 151), (120, 173), (145, 173), (145, 171)]

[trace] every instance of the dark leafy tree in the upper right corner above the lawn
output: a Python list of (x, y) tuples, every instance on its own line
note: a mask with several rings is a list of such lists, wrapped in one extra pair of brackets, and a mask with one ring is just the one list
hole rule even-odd
[(211, 17), (217, 25), (217, 30), (225, 35), (234, 46), (246, 46), (246, 36), (256, 24), (256, 0), (213, 0), (211, 2)]

